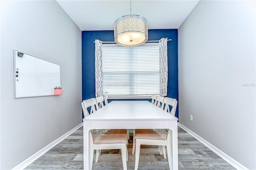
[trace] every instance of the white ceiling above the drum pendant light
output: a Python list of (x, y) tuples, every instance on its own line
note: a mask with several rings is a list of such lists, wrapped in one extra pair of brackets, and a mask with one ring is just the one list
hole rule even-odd
[[(130, 14), (129, 0), (57, 0), (82, 31), (114, 30), (114, 22)], [(199, 0), (132, 0), (132, 14), (148, 21), (148, 29), (177, 29)]]

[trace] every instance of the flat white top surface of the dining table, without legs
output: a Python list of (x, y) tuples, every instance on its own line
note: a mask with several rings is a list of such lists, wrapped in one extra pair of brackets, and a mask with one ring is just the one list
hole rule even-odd
[(149, 101), (112, 101), (83, 121), (178, 121)]

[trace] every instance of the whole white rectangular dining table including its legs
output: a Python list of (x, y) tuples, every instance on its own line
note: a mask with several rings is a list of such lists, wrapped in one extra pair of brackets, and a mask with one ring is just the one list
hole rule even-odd
[[(84, 169), (91, 169), (92, 129), (170, 129), (169, 167), (178, 170), (178, 118), (148, 101), (112, 101), (83, 119)], [(168, 146), (167, 146), (168, 149)]]

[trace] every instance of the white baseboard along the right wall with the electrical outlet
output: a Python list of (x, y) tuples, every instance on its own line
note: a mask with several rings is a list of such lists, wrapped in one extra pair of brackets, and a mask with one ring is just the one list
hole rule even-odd
[(196, 138), (199, 142), (204, 144), (206, 147), (208, 147), (210, 150), (212, 150), (214, 153), (216, 153), (222, 159), (226, 160), (234, 168), (236, 168), (238, 170), (248, 170), (248, 168), (246, 168), (245, 166), (243, 166), (242, 164), (240, 164), (239, 162), (237, 162), (236, 160), (234, 160), (233, 158), (231, 158), (230, 156), (228, 156), (227, 154), (222, 152), (220, 149), (216, 148), (214, 145), (212, 145), (209, 142), (207, 142), (206, 140), (204, 140), (202, 137), (200, 137), (198, 134), (194, 133), (192, 130), (188, 129), (187, 127), (185, 127), (184, 125), (182, 125), (180, 123), (178, 123), (178, 126), (183, 128), (186, 132), (191, 134), (194, 138)]

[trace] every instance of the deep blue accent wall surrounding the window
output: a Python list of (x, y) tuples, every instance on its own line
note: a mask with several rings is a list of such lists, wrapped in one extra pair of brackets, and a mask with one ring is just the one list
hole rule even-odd
[[(168, 42), (167, 97), (178, 100), (178, 30), (148, 30), (148, 40), (172, 39)], [(95, 40), (114, 41), (114, 31), (82, 31), (82, 99), (95, 97)], [(137, 99), (138, 100), (138, 99)], [(145, 99), (139, 99), (145, 100)], [(147, 100), (147, 99), (146, 99)], [(112, 100), (110, 100), (112, 101)], [(148, 99), (148, 101), (151, 101)], [(178, 107), (176, 110), (178, 117)]]

